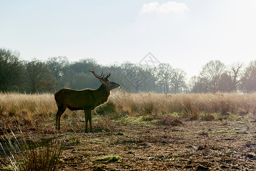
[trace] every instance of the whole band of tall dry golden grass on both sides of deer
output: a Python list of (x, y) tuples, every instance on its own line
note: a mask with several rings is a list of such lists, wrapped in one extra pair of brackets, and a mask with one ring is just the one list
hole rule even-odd
[[(55, 120), (57, 107), (54, 95), (25, 95), (18, 93), (0, 93), (1, 127), (10, 124), (35, 125), (42, 120)], [(150, 116), (148, 120), (162, 119), (161, 115), (177, 115), (189, 120), (214, 120), (214, 113), (219, 115), (254, 115), (256, 113), (256, 93), (237, 94), (178, 94), (165, 95), (156, 93), (127, 93), (113, 91), (107, 104), (96, 110), (98, 113), (111, 114), (111, 119), (119, 116)], [(79, 117), (78, 117), (79, 116)], [(210, 117), (209, 117), (210, 116)], [(62, 118), (83, 120), (83, 111), (66, 110)], [(3, 119), (5, 123), (3, 123)], [(5, 126), (3, 126), (5, 124)], [(54, 127), (55, 122), (52, 122)], [(74, 121), (71, 121), (74, 124)], [(107, 127), (107, 126), (106, 126)]]

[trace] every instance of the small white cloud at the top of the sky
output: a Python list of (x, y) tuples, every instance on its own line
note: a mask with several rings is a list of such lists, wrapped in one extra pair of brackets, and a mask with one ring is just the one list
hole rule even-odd
[(140, 10), (141, 14), (144, 13), (162, 13), (162, 14), (170, 14), (170, 13), (185, 13), (189, 11), (188, 6), (185, 3), (178, 2), (167, 2), (159, 4), (158, 2), (146, 3)]

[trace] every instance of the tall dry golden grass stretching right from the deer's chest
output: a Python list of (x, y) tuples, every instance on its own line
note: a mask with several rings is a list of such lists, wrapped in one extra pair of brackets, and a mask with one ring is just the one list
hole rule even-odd
[(198, 119), (201, 113), (246, 114), (256, 112), (256, 93), (178, 94), (127, 93), (116, 91), (109, 99), (116, 111), (128, 115), (183, 114)]

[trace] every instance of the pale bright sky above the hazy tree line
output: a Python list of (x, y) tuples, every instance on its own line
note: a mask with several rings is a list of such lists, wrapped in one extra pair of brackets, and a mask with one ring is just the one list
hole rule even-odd
[(21, 58), (161, 63), (198, 75), (210, 60), (256, 59), (256, 1), (2, 1), (0, 47)]

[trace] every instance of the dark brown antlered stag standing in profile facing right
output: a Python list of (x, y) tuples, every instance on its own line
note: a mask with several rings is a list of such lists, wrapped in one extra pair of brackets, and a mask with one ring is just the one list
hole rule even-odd
[(94, 74), (94, 76), (101, 82), (101, 86), (99, 88), (86, 88), (82, 90), (62, 88), (54, 93), (55, 101), (58, 105), (58, 112), (56, 113), (56, 129), (60, 129), (60, 116), (62, 116), (66, 108), (68, 108), (71, 111), (83, 110), (86, 115), (85, 131), (87, 133), (87, 124), (89, 120), (90, 132), (92, 132), (91, 111), (97, 106), (107, 102), (111, 89), (120, 86), (108, 79), (111, 75), (110, 72), (108, 72), (107, 76), (104, 78), (102, 70), (101, 75), (98, 76), (94, 70), (94, 65), (92, 65), (92, 67), (93, 70), (90, 72), (92, 72), (92, 74)]

